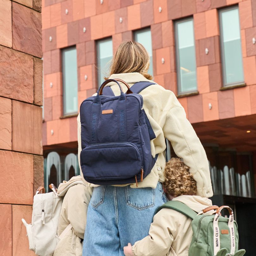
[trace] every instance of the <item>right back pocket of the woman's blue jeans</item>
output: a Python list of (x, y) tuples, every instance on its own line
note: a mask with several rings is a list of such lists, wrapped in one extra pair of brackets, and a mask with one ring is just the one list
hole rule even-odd
[(151, 187), (131, 188), (125, 187), (126, 204), (137, 209), (144, 210), (155, 205), (155, 189)]

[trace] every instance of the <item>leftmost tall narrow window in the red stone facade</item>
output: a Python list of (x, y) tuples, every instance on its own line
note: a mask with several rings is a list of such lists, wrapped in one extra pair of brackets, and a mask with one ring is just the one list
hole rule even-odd
[(77, 62), (76, 47), (62, 50), (63, 113), (77, 113)]

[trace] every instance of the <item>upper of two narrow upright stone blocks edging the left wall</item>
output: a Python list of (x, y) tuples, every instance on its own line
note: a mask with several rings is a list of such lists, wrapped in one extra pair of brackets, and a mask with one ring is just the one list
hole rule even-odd
[(34, 58), (34, 104), (43, 105), (43, 61), (39, 58)]

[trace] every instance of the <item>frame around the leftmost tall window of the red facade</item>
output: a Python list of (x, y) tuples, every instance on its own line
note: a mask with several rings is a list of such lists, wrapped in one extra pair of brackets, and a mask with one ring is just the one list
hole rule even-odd
[[(66, 88), (66, 84), (65, 84), (65, 62), (64, 60), (64, 52), (68, 51), (68, 50), (76, 50), (76, 45), (75, 46), (70, 46), (67, 48), (63, 48), (61, 49), (61, 62), (62, 62), (62, 90), (63, 90), (63, 99), (62, 99), (62, 103), (63, 103), (63, 107), (62, 107), (62, 111), (63, 111), (63, 116), (70, 116), (73, 114), (77, 114), (78, 113), (78, 106), (77, 106), (77, 111), (74, 112), (66, 112), (66, 99), (65, 99), (65, 88)], [(77, 50), (76, 50), (76, 76), (77, 76), (77, 101), (78, 101), (78, 67), (77, 67)]]

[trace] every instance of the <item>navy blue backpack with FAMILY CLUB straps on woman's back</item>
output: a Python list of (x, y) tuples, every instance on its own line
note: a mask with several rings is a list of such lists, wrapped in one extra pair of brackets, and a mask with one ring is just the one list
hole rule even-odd
[[(118, 81), (126, 85), (125, 94)], [(104, 87), (109, 82), (119, 85), (119, 96), (109, 86)], [(121, 79), (108, 79), (96, 96), (82, 102), (80, 163), (86, 181), (97, 185), (137, 184), (150, 173), (157, 159), (150, 149), (155, 133), (138, 93), (151, 84), (155, 83), (137, 82), (129, 88)]]

